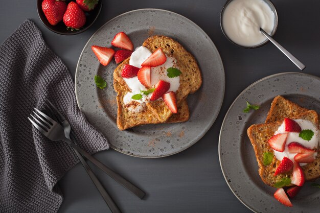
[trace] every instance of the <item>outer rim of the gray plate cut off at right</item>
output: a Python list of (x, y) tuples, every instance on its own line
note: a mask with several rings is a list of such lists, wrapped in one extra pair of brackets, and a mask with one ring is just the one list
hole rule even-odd
[[(320, 81), (320, 77), (317, 77), (317, 76), (313, 76), (313, 75), (310, 75), (310, 74), (305, 74), (305, 73), (295, 73), (295, 72), (286, 72), (286, 73), (278, 73), (278, 74), (273, 74), (273, 75), (270, 75), (270, 76), (267, 76), (267, 77), (264, 77), (252, 84), (250, 84), (248, 87), (246, 87), (238, 96), (237, 98), (233, 101), (233, 103), (230, 105), (230, 107), (228, 108), (225, 116), (224, 116), (224, 119), (222, 121), (222, 125), (221, 125), (221, 129), (220, 129), (220, 134), (219, 134), (219, 144), (218, 144), (218, 155), (219, 155), (219, 163), (220, 163), (220, 168), (221, 168), (221, 171), (222, 171), (222, 174), (223, 174), (223, 177), (224, 177), (224, 180), (226, 182), (226, 184), (228, 185), (228, 187), (230, 188), (231, 192), (236, 196), (236, 198), (243, 204), (245, 205), (248, 209), (252, 210), (253, 212), (262, 212), (262, 210), (259, 210), (259, 209), (254, 209), (253, 207), (251, 207), (249, 205), (249, 203), (247, 203), (246, 201), (244, 201), (243, 199), (241, 199), (236, 193), (235, 193), (235, 190), (236, 188), (233, 188), (233, 186), (228, 182), (228, 178), (225, 174), (225, 171), (223, 169), (223, 165), (222, 165), (222, 162), (221, 162), (221, 135), (222, 135), (222, 129), (224, 128), (224, 126), (226, 125), (225, 122), (228, 118), (228, 115), (230, 113), (230, 111), (232, 110), (232, 107), (234, 106), (234, 104), (240, 99), (240, 97), (242, 96), (243, 93), (245, 93), (245, 91), (247, 91), (249, 88), (252, 88), (253, 86), (259, 84), (260, 82), (262, 81), (265, 81), (267, 79), (272, 79), (272, 78), (275, 78), (275, 77), (280, 77), (280, 76), (283, 76), (283, 75), (303, 75), (303, 76), (306, 76), (306, 77), (309, 77), (311, 79), (316, 79), (318, 81)], [(275, 202), (277, 202), (275, 200)], [(281, 204), (280, 204), (281, 205)], [(290, 210), (290, 208), (289, 208)], [(290, 211), (291, 212), (291, 211)]]

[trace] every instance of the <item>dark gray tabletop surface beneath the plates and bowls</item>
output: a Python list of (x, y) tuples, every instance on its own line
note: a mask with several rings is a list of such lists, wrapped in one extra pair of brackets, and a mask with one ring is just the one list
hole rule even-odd
[[(186, 16), (199, 25), (216, 44), (226, 77), (225, 97), (220, 114), (205, 136), (179, 154), (161, 159), (130, 157), (114, 150), (95, 157), (146, 191), (144, 200), (132, 196), (122, 186), (94, 168), (123, 212), (251, 212), (228, 188), (219, 164), (218, 139), (223, 117), (238, 94), (249, 84), (271, 74), (298, 72), (271, 43), (255, 50), (241, 49), (223, 36), (219, 15), (225, 0), (104, 0), (94, 25), (75, 36), (62, 36), (45, 28), (37, 16), (36, 1), (4, 1), (0, 13), (0, 42), (26, 18), (36, 22), (45, 41), (75, 75), (81, 50), (92, 34), (106, 21), (140, 8), (160, 8)], [(273, 0), (279, 27), (274, 38), (300, 59), (304, 73), (319, 75), (320, 2)], [(205, 78), (205, 77), (204, 77)], [(59, 181), (64, 201), (59, 213), (110, 212), (80, 164)]]

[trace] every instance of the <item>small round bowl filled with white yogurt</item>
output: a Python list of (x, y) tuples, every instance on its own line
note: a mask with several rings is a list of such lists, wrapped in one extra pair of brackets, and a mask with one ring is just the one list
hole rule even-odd
[(222, 27), (235, 43), (255, 46), (266, 40), (260, 28), (268, 34), (272, 32), (275, 13), (262, 0), (233, 0), (224, 9)]

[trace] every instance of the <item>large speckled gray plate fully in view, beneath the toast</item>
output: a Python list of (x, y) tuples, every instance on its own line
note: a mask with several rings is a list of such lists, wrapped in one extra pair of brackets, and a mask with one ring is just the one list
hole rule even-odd
[[(150, 35), (170, 36), (195, 56), (203, 85), (188, 97), (188, 122), (118, 130), (112, 77), (116, 64), (112, 61), (108, 66), (100, 65), (90, 47), (111, 46), (113, 36), (120, 31), (129, 35), (135, 47)], [(95, 75), (106, 79), (108, 86), (104, 90), (95, 86)], [(113, 18), (89, 39), (78, 61), (75, 87), (81, 111), (108, 138), (113, 149), (136, 157), (163, 157), (187, 149), (210, 129), (223, 100), (224, 70), (215, 45), (194, 22), (170, 11), (141, 9)]]

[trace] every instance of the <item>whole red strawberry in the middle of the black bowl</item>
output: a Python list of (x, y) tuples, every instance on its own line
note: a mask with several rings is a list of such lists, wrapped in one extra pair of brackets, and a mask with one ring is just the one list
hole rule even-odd
[(77, 3), (70, 2), (63, 15), (63, 22), (66, 27), (79, 30), (85, 24), (85, 14)]

